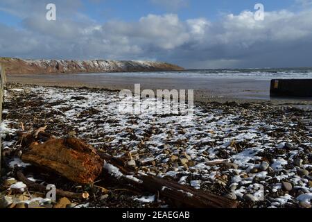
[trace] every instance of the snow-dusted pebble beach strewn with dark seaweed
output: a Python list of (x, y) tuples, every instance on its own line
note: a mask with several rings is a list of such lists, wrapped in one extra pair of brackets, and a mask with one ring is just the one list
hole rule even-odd
[(6, 135), (16, 135), (21, 122), (26, 130), (47, 125), (57, 137), (79, 137), (116, 157), (130, 152), (142, 173), (226, 195), (243, 207), (311, 207), (309, 111), (266, 103), (208, 103), (196, 105), (189, 121), (177, 114), (122, 114), (118, 92), (104, 89), (22, 89), (6, 92), (5, 149), (15, 147), (16, 138)]

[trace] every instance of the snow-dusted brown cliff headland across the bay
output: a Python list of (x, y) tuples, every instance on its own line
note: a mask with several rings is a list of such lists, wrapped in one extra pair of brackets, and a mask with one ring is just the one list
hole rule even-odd
[(182, 67), (166, 62), (114, 60), (21, 60), (0, 58), (6, 74), (71, 74), (120, 71), (175, 71)]

